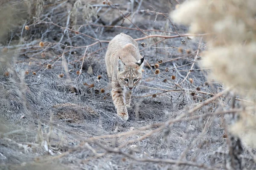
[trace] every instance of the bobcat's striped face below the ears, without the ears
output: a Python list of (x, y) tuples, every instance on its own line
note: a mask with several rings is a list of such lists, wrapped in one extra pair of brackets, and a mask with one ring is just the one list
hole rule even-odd
[(141, 83), (142, 72), (140, 67), (125, 67), (124, 71), (118, 73), (119, 84), (127, 91), (132, 91)]

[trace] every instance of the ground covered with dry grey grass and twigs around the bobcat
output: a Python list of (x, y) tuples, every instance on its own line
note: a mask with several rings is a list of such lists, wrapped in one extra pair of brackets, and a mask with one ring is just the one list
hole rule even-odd
[[(1, 62), (11, 65), (2, 64), (0, 76), (0, 169), (228, 169), (229, 117), (204, 116), (216, 111), (215, 102), (190, 112), (222, 85), (198, 65), (201, 37), (182, 44), (191, 40), (188, 28), (169, 21), (177, 2), (104, 2), (34, 0), (3, 34)], [(108, 41), (121, 32), (139, 39), (148, 62), (127, 122), (116, 115), (104, 59)], [(241, 158), (241, 169), (256, 168), (248, 151)]]

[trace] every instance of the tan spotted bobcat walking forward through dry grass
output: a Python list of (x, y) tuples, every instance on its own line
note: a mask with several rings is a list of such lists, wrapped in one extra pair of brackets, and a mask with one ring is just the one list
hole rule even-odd
[(138, 44), (131, 36), (121, 33), (109, 42), (105, 62), (112, 83), (112, 99), (117, 116), (124, 121), (128, 120), (132, 91), (142, 81), (143, 61)]

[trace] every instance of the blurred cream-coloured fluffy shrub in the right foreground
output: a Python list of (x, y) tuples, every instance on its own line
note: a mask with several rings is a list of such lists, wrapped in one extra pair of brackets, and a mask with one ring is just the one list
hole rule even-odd
[[(255, 0), (190, 0), (171, 13), (191, 33), (207, 33), (202, 66), (213, 68), (209, 77), (252, 97), (256, 90), (256, 3)], [(233, 134), (256, 147), (255, 115), (240, 114), (231, 127)]]

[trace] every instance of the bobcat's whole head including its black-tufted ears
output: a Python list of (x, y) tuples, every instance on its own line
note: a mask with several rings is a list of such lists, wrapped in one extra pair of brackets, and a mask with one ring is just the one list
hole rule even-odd
[(142, 67), (144, 57), (130, 65), (125, 65), (121, 59), (118, 60), (118, 80), (121, 87), (127, 91), (136, 89), (142, 80)]

